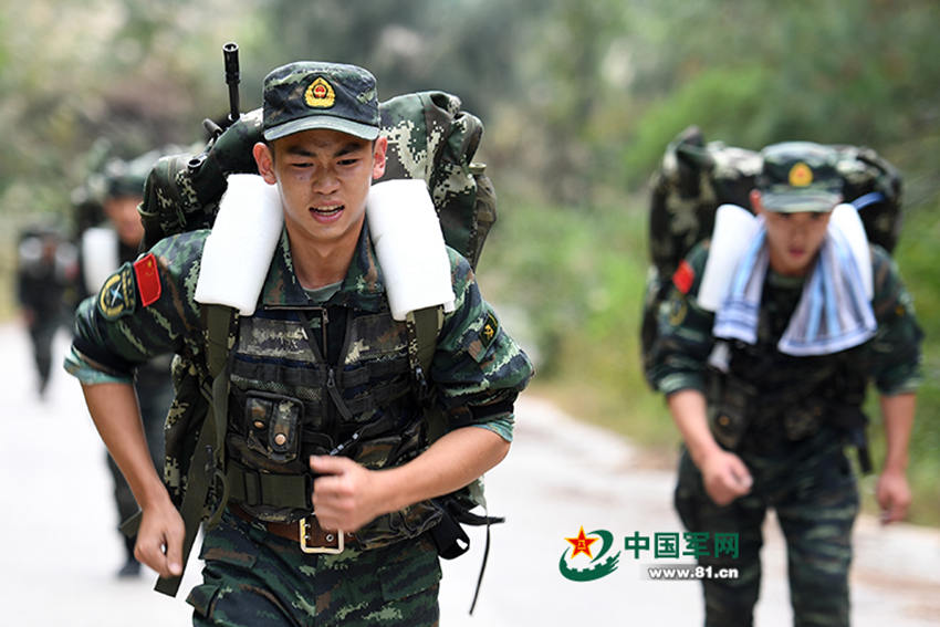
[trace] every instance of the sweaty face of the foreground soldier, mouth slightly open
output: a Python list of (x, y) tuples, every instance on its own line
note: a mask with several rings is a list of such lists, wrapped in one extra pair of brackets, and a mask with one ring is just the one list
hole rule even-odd
[(255, 145), (261, 176), (279, 185), (292, 240), (357, 240), (369, 185), (385, 173), (387, 145), (384, 137), (369, 142), (321, 128)]

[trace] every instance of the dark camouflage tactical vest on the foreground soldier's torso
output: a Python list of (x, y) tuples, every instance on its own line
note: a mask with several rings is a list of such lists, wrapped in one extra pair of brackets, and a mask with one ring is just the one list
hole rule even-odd
[[(229, 498), (261, 520), (293, 522), (312, 510), (311, 454), (382, 469), (420, 453), (427, 436), (407, 339), (388, 311), (269, 307), (241, 318), (229, 362)], [(356, 537), (364, 548), (382, 546), (440, 515), (425, 501)]]

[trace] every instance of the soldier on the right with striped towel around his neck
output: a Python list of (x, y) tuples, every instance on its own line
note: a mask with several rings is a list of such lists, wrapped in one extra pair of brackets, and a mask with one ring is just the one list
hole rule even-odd
[(843, 449), (864, 445), (860, 405), (874, 378), (887, 442), (877, 500), (885, 522), (902, 519), (910, 502), (907, 450), (921, 333), (891, 259), (870, 245), (868, 338), (832, 353), (781, 351), (804, 284), (822, 272), (817, 260), (831, 245), (829, 212), (839, 201), (839, 184), (833, 155), (822, 146), (780, 144), (762, 157), (751, 201), (764, 221), (765, 240), (752, 245), (766, 251), (769, 269), (760, 276), (754, 335), (716, 337), (721, 332), (716, 320), (727, 304), (712, 313), (699, 301), (707, 260), (719, 254), (703, 242), (673, 275), (647, 374), (666, 395), (686, 445), (676, 488), (683, 524), (690, 532), (739, 534), (737, 560), (700, 558), (740, 573), (733, 581), (702, 582), (706, 625), (752, 624), (767, 508), (776, 511), (786, 537), (794, 624), (848, 625), (858, 492)]

